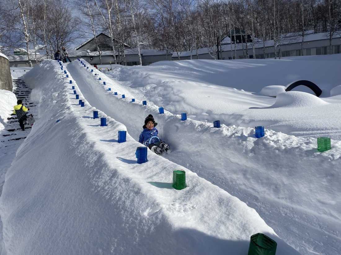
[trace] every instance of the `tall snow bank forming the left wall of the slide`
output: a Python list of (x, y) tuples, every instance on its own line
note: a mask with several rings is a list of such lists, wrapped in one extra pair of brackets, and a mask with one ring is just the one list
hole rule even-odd
[[(82, 71), (77, 65), (65, 69)], [(126, 127), (101, 111), (108, 126), (90, 117), (89, 103), (103, 101), (94, 96), (103, 87), (77, 78), (80, 107), (69, 84), (77, 73), (70, 73), (65, 78), (57, 62), (45, 60), (24, 77), (39, 119), (0, 198), (7, 254), (246, 254), (257, 232), (278, 242), (277, 254), (298, 254), (254, 209), (190, 170), (155, 154), (136, 164), (140, 144), (129, 134), (124, 143), (113, 139)], [(108, 102), (117, 113), (119, 105)], [(171, 188), (179, 168), (187, 173), (181, 191)]]

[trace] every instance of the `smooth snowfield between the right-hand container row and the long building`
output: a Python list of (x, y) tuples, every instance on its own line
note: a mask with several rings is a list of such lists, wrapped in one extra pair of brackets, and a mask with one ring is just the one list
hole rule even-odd
[[(340, 63), (341, 54), (281, 60), (184, 60), (143, 67), (113, 65), (113, 71), (106, 73), (173, 114), (186, 112), (191, 119), (204, 122), (220, 120), (245, 128), (264, 125), (295, 136), (341, 140), (341, 118), (334, 118), (341, 114), (341, 97), (337, 96), (337, 101), (329, 98), (331, 89), (341, 84)], [(298, 80), (315, 83), (322, 89), (320, 98), (333, 104), (269, 109), (276, 98), (257, 96), (264, 87), (287, 87)], [(294, 90), (310, 89), (299, 86)]]

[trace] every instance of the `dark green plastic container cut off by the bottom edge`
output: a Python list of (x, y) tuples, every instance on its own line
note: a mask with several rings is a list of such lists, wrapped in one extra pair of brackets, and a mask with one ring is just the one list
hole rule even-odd
[(268, 236), (257, 233), (251, 236), (248, 255), (275, 255), (277, 242)]

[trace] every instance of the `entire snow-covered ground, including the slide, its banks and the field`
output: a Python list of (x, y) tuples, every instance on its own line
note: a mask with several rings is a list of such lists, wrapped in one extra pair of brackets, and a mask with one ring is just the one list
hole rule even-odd
[[(3, 254), (247, 254), (262, 232), (278, 255), (339, 255), (340, 60), (193, 60), (103, 73), (74, 61), (64, 64), (70, 78), (44, 61), (24, 76), (38, 103), (31, 133), (17, 152), (0, 148), (16, 153), (1, 158), (6, 166), (14, 158), (1, 168)], [(322, 96), (282, 92), (297, 80)], [(148, 114), (172, 152), (136, 164)], [(257, 125), (265, 137), (255, 138)], [(127, 142), (117, 143), (119, 130)], [(317, 151), (320, 136), (332, 138), (331, 150)], [(187, 188), (172, 189), (175, 169), (186, 171)]]

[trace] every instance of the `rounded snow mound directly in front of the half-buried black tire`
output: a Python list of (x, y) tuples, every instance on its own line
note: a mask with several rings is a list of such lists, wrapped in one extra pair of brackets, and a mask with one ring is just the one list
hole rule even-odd
[(268, 108), (278, 107), (316, 107), (328, 105), (326, 101), (306, 92), (287, 91), (277, 95), (276, 102)]

